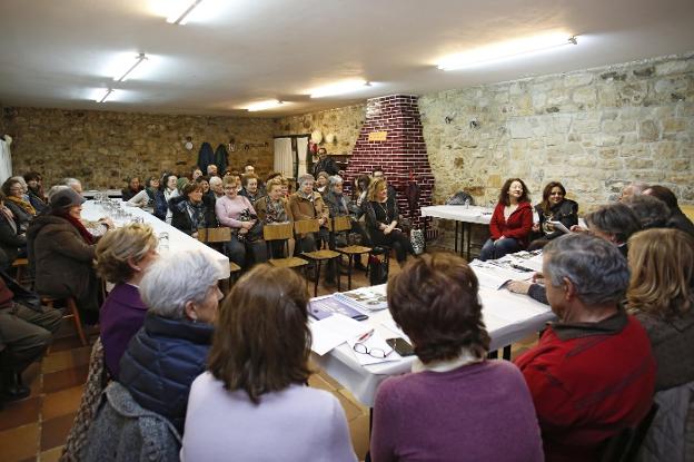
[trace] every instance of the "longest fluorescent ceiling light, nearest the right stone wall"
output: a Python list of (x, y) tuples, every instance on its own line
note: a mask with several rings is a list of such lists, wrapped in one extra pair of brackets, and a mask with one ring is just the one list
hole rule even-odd
[(546, 33), (518, 40), (510, 40), (448, 56), (438, 62), (443, 70), (465, 69), (483, 66), (522, 55), (544, 51), (565, 45), (576, 45), (576, 37), (567, 33)]

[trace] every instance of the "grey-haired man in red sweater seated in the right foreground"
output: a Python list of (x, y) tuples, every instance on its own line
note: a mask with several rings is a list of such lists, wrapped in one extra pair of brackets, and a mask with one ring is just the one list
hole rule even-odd
[(617, 247), (565, 235), (544, 248), (543, 263), (559, 321), (515, 363), (535, 402), (546, 460), (598, 460), (607, 439), (636, 426), (651, 409), (651, 343), (619, 306), (629, 273)]

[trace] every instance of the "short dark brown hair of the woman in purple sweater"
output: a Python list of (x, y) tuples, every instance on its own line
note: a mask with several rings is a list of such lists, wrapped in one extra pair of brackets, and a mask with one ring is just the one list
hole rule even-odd
[(390, 278), (388, 308), (423, 363), (455, 358), (463, 347), (487, 354), (478, 289), (473, 269), (453, 253), (425, 254)]

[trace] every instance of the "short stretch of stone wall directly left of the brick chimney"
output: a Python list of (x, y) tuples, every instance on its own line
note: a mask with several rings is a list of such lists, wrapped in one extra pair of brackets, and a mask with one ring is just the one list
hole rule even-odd
[[(366, 105), (284, 117), (278, 120), (275, 135), (306, 135), (314, 132), (314, 130), (320, 130), (324, 137), (320, 146), (325, 147), (328, 154), (348, 156), (351, 155), (365, 119)], [(335, 135), (333, 144), (325, 141), (328, 134)]]

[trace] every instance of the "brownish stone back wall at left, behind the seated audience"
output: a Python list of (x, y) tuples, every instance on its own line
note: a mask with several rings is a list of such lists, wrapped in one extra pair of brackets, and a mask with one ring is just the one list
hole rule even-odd
[[(73, 176), (87, 189), (121, 188), (133, 175), (188, 174), (204, 141), (215, 149), (230, 138), (231, 168), (247, 160), (261, 175), (272, 168), (272, 119), (4, 108), (1, 127), (13, 137), (14, 174), (40, 171), (46, 185)], [(187, 136), (192, 150), (184, 146)]]

